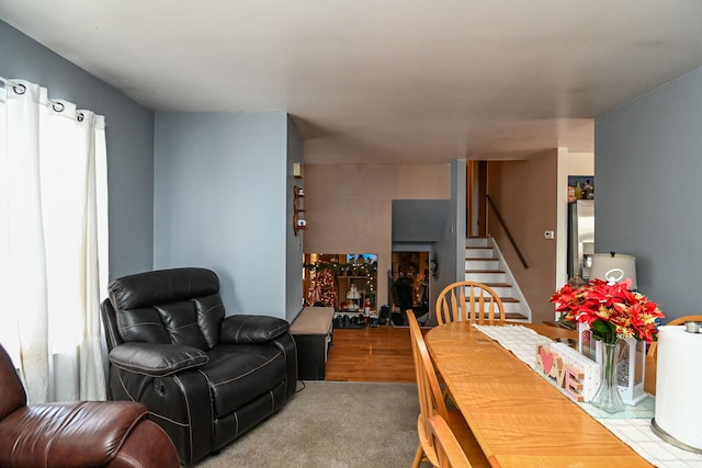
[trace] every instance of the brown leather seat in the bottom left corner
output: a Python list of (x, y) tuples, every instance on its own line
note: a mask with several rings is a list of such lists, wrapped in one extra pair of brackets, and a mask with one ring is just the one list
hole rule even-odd
[(147, 413), (127, 401), (27, 406), (0, 345), (0, 467), (179, 467), (176, 447)]

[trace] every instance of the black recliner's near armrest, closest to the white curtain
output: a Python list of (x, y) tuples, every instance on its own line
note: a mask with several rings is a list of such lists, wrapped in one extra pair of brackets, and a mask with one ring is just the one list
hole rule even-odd
[(182, 344), (124, 343), (110, 352), (113, 366), (151, 377), (165, 377), (207, 364), (207, 354)]

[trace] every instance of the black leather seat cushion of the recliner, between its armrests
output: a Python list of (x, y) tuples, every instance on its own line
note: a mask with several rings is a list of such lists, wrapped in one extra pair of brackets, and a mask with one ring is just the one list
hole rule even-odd
[(216, 416), (229, 414), (286, 377), (285, 355), (270, 344), (219, 344), (199, 370), (210, 383)]

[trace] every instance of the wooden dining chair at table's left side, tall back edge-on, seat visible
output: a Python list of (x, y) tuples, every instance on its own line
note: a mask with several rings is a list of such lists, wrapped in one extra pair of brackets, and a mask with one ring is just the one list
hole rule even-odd
[(407, 321), (409, 322), (409, 334), (412, 344), (420, 410), (419, 416), (417, 418), (419, 446), (417, 447), (415, 460), (412, 461), (412, 468), (418, 468), (424, 460), (428, 460), (434, 466), (439, 466), (439, 457), (429, 429), (429, 419), (437, 414), (444, 419), (458, 441), (461, 448), (472, 460), (473, 466), (488, 467), (489, 463), (485, 454), (483, 454), (473, 432), (471, 432), (471, 427), (468, 427), (463, 414), (457, 410), (449, 410), (446, 408), (446, 403), (441, 393), (441, 387), (439, 386), (437, 372), (429, 357), (424, 336), (411, 310), (407, 311)]

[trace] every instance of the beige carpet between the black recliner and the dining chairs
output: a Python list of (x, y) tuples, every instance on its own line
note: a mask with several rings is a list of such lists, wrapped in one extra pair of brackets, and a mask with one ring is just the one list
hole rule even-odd
[(305, 381), (278, 413), (196, 467), (407, 468), (418, 414), (415, 384)]

